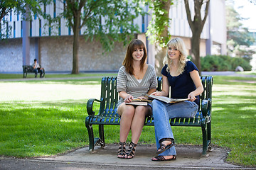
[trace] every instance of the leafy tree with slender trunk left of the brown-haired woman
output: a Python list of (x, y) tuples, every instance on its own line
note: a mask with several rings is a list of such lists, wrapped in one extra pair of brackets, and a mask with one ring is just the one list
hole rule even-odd
[(124, 42), (124, 45), (138, 31), (138, 27), (132, 23), (139, 13), (144, 12), (139, 0), (66, 0), (63, 13), (60, 17), (67, 19), (67, 25), (73, 30), (73, 70), (72, 74), (79, 73), (78, 49), (81, 28), (85, 28), (86, 40), (96, 38), (100, 40), (102, 47), (110, 51), (114, 42)]

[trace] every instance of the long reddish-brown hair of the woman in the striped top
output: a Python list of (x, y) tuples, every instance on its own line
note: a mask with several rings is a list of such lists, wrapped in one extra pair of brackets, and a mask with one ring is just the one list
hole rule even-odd
[(125, 55), (124, 61), (123, 61), (123, 65), (125, 67), (125, 70), (129, 73), (129, 74), (134, 74), (134, 69), (132, 67), (132, 62), (133, 62), (133, 58), (132, 58), (132, 52), (134, 52), (134, 49), (139, 48), (139, 49), (143, 49), (144, 51), (144, 55), (142, 57), (141, 63), (140, 63), (140, 70), (143, 70), (144, 64), (146, 62), (146, 47), (144, 45), (144, 42), (142, 42), (142, 40), (138, 40), (138, 39), (134, 39), (131, 42), (129, 42), (129, 45), (127, 47), (127, 53)]

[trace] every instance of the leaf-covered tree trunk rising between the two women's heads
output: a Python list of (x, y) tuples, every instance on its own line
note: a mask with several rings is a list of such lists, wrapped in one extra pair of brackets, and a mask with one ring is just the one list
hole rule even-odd
[(148, 1), (152, 11), (152, 20), (149, 23), (146, 36), (149, 36), (151, 43), (156, 43), (156, 73), (160, 74), (163, 67), (163, 60), (166, 55), (166, 44), (170, 40), (169, 33), (169, 11), (173, 4), (172, 0)]

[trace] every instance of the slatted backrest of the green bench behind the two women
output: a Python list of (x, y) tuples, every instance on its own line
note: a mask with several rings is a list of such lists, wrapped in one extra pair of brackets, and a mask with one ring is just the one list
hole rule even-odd
[[(203, 99), (212, 100), (213, 77), (201, 77), (204, 91), (200, 95), (200, 104)], [(161, 91), (162, 79), (157, 77), (157, 91)], [(117, 77), (103, 77), (101, 82), (100, 111), (102, 116), (119, 117), (117, 114), (117, 101), (119, 95), (117, 93)]]

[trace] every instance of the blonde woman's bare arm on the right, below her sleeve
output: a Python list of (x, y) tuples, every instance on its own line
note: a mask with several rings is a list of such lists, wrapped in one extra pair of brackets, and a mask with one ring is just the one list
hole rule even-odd
[(190, 76), (191, 76), (191, 79), (193, 80), (193, 83), (196, 86), (196, 90), (191, 91), (191, 93), (188, 94), (188, 98), (191, 98), (191, 101), (195, 101), (196, 96), (198, 96), (199, 94), (201, 94), (203, 92), (203, 84), (200, 79), (198, 71), (193, 70), (192, 72), (190, 72)]

